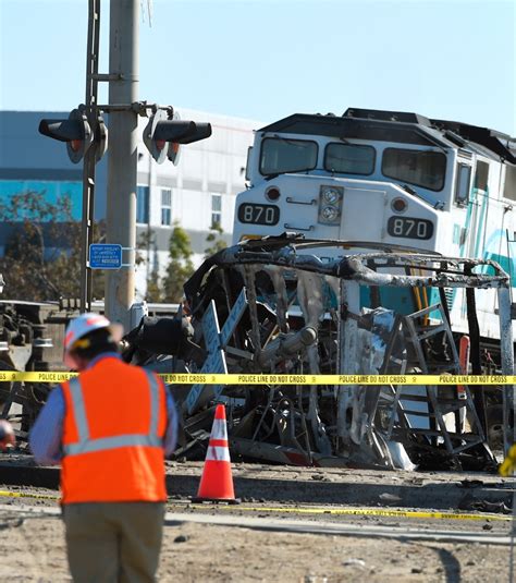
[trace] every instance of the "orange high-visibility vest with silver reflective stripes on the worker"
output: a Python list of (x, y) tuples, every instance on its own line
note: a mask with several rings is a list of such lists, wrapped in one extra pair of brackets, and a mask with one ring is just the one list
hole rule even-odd
[(106, 357), (62, 390), (62, 502), (167, 500), (161, 380)]

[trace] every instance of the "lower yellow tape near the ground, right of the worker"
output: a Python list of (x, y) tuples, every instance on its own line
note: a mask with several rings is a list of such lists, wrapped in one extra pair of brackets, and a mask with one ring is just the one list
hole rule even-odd
[[(195, 505), (191, 508), (206, 508), (202, 505)], [(500, 514), (470, 514), (458, 512), (426, 512), (422, 510), (378, 510), (376, 508), (284, 508), (284, 507), (242, 507), (242, 506), (219, 506), (224, 510), (245, 510), (249, 512), (282, 512), (291, 514), (343, 514), (353, 517), (395, 517), (405, 519), (439, 519), (439, 520), (493, 520), (507, 522), (513, 520), (509, 515)]]

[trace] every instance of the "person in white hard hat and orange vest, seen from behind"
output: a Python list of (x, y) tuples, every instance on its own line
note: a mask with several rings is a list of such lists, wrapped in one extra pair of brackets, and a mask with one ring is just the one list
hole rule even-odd
[(64, 362), (79, 374), (52, 390), (30, 432), (40, 464), (61, 464), (70, 571), (82, 582), (156, 581), (175, 449), (172, 396), (122, 361), (122, 327), (98, 314), (71, 321)]

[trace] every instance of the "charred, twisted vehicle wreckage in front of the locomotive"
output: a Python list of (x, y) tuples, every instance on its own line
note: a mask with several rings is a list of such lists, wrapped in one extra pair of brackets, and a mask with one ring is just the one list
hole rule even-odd
[[(508, 442), (513, 387), (410, 386), (406, 378), (486, 372), (477, 290), (491, 293), (497, 305), (501, 343), (490, 373), (512, 375), (508, 276), (493, 262), (371, 244), (358, 253), (364, 247), (287, 235), (229, 247), (185, 284), (188, 316), (144, 319), (127, 336), (126, 359), (158, 372), (286, 374), (299, 381), (172, 386), (182, 411), (179, 457), (201, 459), (212, 408), (223, 401), (234, 459), (389, 469), (495, 466), (487, 440), (489, 409), (503, 403)], [(322, 260), (323, 255), (329, 257)], [(417, 291), (432, 301), (407, 311), (410, 302), (404, 297)], [(462, 333), (452, 331), (451, 292), (463, 297)], [(389, 307), (394, 304), (400, 312)], [(466, 333), (469, 368), (458, 349)], [(385, 385), (307, 384), (320, 374), (385, 375)]]

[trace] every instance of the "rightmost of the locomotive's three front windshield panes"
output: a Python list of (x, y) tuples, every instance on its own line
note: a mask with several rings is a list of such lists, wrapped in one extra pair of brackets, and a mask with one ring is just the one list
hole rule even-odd
[(386, 148), (383, 151), (382, 173), (430, 191), (442, 191), (446, 172), (446, 157), (440, 151)]

